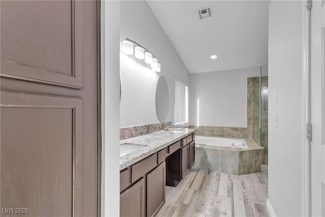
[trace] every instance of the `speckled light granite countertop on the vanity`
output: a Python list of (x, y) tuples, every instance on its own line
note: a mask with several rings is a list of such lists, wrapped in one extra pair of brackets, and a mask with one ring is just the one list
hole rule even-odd
[(173, 144), (174, 142), (177, 142), (178, 140), (190, 135), (194, 131), (196, 131), (196, 129), (170, 128), (168, 131), (157, 131), (142, 136), (120, 140), (120, 145), (126, 143), (143, 147), (140, 150), (136, 150), (121, 156), (120, 170), (150, 156), (151, 154)]

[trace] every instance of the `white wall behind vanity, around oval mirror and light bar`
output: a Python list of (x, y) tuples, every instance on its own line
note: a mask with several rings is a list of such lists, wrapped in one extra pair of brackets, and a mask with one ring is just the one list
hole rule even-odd
[(189, 73), (146, 1), (121, 1), (120, 42), (129, 38), (149, 49), (161, 64), (156, 73), (133, 55), (120, 53), (120, 127), (159, 122), (156, 84), (165, 76), (169, 91), (166, 121), (174, 121), (175, 76), (189, 83)]

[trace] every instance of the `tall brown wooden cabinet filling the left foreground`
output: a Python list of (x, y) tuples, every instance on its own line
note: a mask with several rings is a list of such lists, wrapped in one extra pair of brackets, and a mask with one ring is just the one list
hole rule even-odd
[(100, 1), (1, 1), (0, 12), (1, 207), (98, 216)]

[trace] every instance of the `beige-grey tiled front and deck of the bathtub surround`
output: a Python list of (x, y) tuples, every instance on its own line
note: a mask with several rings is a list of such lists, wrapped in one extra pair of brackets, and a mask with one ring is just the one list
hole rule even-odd
[(248, 149), (196, 144), (192, 168), (234, 175), (261, 171), (264, 147), (259, 147), (253, 139), (245, 140)]

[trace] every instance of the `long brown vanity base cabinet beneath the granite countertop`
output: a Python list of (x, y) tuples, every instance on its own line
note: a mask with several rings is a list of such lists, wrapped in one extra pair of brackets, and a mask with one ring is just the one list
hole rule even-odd
[[(120, 171), (120, 216), (153, 216), (194, 163), (194, 134)], [(189, 144), (188, 144), (188, 143)]]

